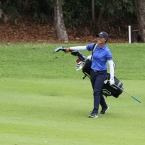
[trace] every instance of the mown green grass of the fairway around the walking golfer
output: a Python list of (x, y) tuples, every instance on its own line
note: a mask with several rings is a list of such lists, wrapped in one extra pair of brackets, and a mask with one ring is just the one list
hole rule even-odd
[(97, 119), (87, 117), (92, 88), (76, 58), (53, 54), (61, 45), (0, 45), (0, 145), (144, 145), (145, 44), (108, 44), (116, 76), (142, 103), (108, 97), (110, 109)]

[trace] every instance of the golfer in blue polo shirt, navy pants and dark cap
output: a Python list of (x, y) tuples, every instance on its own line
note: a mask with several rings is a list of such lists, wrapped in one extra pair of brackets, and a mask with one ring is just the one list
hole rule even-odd
[(101, 93), (104, 81), (107, 75), (107, 62), (110, 66), (110, 85), (114, 84), (114, 62), (112, 60), (112, 54), (106, 43), (108, 40), (108, 34), (106, 32), (100, 32), (97, 36), (97, 43), (91, 43), (87, 46), (76, 46), (66, 48), (66, 52), (88, 50), (92, 51), (92, 65), (90, 71), (90, 80), (93, 88), (94, 95), (94, 107), (89, 114), (90, 118), (98, 117), (99, 104), (102, 107), (100, 114), (105, 114), (109, 109), (105, 99)]

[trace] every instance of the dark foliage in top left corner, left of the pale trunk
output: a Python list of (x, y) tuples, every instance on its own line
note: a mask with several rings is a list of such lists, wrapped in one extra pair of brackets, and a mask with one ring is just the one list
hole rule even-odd
[(1, 0), (0, 9), (3, 16), (10, 16), (13, 19), (21, 15), (29, 15), (34, 22), (44, 23), (48, 16), (52, 16), (52, 0)]

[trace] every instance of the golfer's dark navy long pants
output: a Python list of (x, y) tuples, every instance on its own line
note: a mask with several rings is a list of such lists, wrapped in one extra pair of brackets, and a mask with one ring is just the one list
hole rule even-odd
[(102, 106), (102, 108), (107, 108), (107, 104), (105, 102), (105, 99), (101, 93), (105, 78), (107, 75), (107, 71), (90, 71), (90, 78), (93, 88), (93, 95), (94, 95), (94, 109), (93, 113), (98, 113), (99, 110), (99, 104)]

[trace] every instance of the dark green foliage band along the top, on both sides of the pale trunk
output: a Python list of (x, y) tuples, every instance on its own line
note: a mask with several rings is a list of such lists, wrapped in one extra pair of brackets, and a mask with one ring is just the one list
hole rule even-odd
[[(67, 29), (89, 27), (93, 32), (108, 27), (121, 27), (124, 22), (136, 21), (134, 0), (62, 0), (63, 18)], [(137, 1), (137, 0), (136, 0)], [(54, 18), (54, 0), (0, 0), (0, 17), (5, 22), (30, 17), (35, 23), (48, 22)], [(94, 2), (94, 11), (92, 11)], [(92, 19), (94, 12), (94, 19)], [(139, 20), (138, 20), (139, 21)], [(140, 22), (138, 22), (140, 23)], [(94, 26), (95, 27), (94, 27)], [(114, 28), (115, 29), (115, 28)]]

